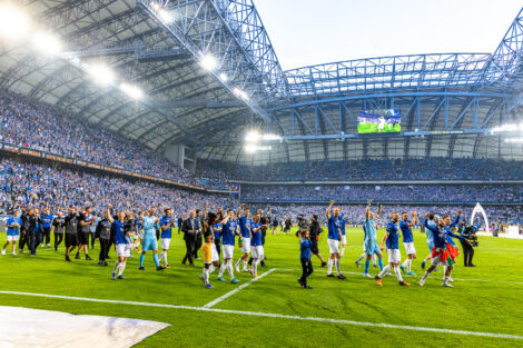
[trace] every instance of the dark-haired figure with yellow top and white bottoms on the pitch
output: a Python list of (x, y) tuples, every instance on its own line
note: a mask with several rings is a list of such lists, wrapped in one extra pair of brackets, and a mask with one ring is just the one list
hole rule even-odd
[(205, 207), (204, 212), (204, 246), (201, 248), (201, 252), (204, 255), (204, 271), (200, 276), (200, 279), (204, 281), (204, 286), (207, 289), (214, 289), (209, 284), (210, 274), (219, 267), (219, 256), (218, 250), (216, 250), (215, 245), (215, 235), (213, 231), (213, 226), (218, 222), (218, 216), (209, 210), (209, 206)]

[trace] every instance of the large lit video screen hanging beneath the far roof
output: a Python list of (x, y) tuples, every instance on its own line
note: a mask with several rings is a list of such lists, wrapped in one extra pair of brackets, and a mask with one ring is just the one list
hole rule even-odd
[(359, 135), (402, 131), (402, 111), (399, 109), (358, 111), (357, 119), (357, 132)]

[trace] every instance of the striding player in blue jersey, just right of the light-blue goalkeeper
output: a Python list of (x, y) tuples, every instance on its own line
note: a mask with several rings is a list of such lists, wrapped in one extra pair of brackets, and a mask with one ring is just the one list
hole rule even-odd
[(397, 223), (399, 222), (399, 215), (393, 212), (391, 215), (392, 221), (388, 222), (385, 236), (382, 240), (382, 250), (385, 250), (385, 243), (387, 246), (388, 253), (388, 265), (385, 266), (379, 275), (375, 277), (378, 286), (382, 286), (382, 278), (388, 272), (388, 270), (394, 269), (396, 274), (397, 281), (401, 286), (409, 286), (408, 282), (405, 282), (402, 278), (402, 271), (399, 270), (399, 261), (402, 260), (402, 255), (399, 253), (399, 228)]

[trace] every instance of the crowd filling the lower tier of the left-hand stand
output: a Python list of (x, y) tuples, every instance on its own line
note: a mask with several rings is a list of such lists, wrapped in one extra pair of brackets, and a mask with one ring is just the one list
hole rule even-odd
[(13, 208), (31, 206), (47, 206), (55, 212), (90, 206), (102, 212), (112, 205), (126, 211), (149, 207), (161, 211), (169, 207), (175, 215), (186, 216), (189, 210), (207, 205), (215, 209), (238, 206), (237, 200), (227, 195), (187, 191), (8, 159), (0, 160), (0, 210), (4, 213), (12, 213)]

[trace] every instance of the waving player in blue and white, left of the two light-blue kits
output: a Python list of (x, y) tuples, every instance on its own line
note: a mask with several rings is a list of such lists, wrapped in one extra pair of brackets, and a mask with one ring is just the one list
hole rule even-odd
[(107, 207), (107, 219), (111, 222), (111, 239), (115, 243), (117, 260), (112, 268), (111, 278), (115, 280), (118, 275), (118, 279), (126, 279), (124, 277), (124, 270), (126, 269), (127, 258), (130, 256), (130, 243), (127, 237), (130, 237), (129, 232), (126, 232), (126, 213), (122, 210), (117, 212), (117, 219), (115, 220), (110, 213), (111, 206)]

